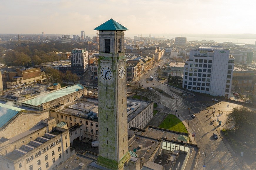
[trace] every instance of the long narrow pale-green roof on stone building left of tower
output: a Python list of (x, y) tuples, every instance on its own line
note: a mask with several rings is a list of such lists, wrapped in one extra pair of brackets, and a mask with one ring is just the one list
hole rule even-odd
[(66, 87), (64, 89), (57, 90), (55, 92), (51, 92), (51, 93), (48, 93), (45, 95), (39, 95), (38, 97), (36, 97), (34, 99), (27, 100), (23, 103), (33, 105), (33, 106), (38, 106), (38, 105), (41, 105), (41, 103), (50, 102), (52, 100), (69, 95), (69, 94), (76, 92), (78, 90), (81, 90), (81, 89), (83, 89), (83, 86), (80, 84), (76, 84), (71, 87)]

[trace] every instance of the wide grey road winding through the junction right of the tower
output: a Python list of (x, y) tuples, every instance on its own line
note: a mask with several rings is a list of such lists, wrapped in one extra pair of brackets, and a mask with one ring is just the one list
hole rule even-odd
[[(158, 63), (155, 65), (162, 65), (162, 63)], [(213, 105), (215, 107), (215, 115), (218, 115), (219, 111), (227, 112), (227, 102), (212, 102), (211, 97), (205, 97), (205, 96), (184, 96), (185, 98), (182, 98), (180, 95), (177, 95), (173, 93), (172, 91), (175, 91), (177, 93), (182, 93), (182, 91), (177, 90), (176, 88), (169, 87), (168, 85), (165, 85), (160, 83), (156, 80), (156, 70), (157, 67), (154, 67), (151, 71), (148, 71), (149, 74), (145, 74), (141, 76), (140, 80), (136, 82), (138, 85), (142, 85), (145, 87), (157, 87), (165, 92), (167, 92), (169, 95), (172, 95), (174, 99), (168, 98), (163, 96), (162, 100), (160, 101), (161, 104), (165, 105), (166, 107), (170, 108), (171, 110), (175, 110), (177, 108), (177, 114), (181, 116), (187, 124), (189, 124), (190, 130), (192, 132), (196, 133), (195, 141), (198, 144), (198, 147), (201, 148), (200, 150), (200, 158), (199, 158), (199, 165), (198, 169), (203, 169), (204, 165), (204, 159), (205, 159), (205, 150), (207, 150), (206, 154), (206, 161), (205, 161), (205, 169), (239, 169), (237, 165), (235, 164), (234, 159), (232, 158), (230, 152), (228, 151), (227, 147), (223, 143), (222, 139), (219, 137), (218, 139), (213, 138), (213, 133), (217, 133), (215, 127), (213, 126), (212, 122), (206, 117), (206, 114), (208, 110), (199, 110), (198, 105), (204, 105), (209, 104)], [(152, 81), (146, 81), (147, 78), (152, 75), (154, 79)], [(171, 90), (172, 91), (171, 91)], [(177, 101), (177, 105), (176, 105)], [(196, 103), (196, 101), (199, 101), (199, 103)], [(201, 104), (200, 104), (201, 103)], [(221, 103), (221, 105), (219, 104)], [(232, 110), (232, 107), (236, 107), (237, 105), (230, 103), (229, 105), (229, 111)], [(191, 112), (187, 108), (191, 108), (192, 113), (195, 113), (196, 118), (189, 117), (189, 114)], [(210, 114), (211, 112), (209, 111)], [(224, 116), (222, 116), (224, 117)], [(189, 118), (189, 122), (188, 122)]]

